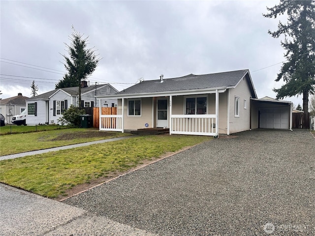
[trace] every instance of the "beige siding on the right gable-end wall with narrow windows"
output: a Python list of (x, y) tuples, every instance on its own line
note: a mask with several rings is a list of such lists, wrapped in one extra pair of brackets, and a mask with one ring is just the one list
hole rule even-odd
[[(239, 98), (239, 117), (235, 117), (235, 97)], [(244, 100), (247, 108), (244, 109)], [(229, 90), (230, 134), (250, 129), (251, 92), (246, 79), (242, 79), (235, 89)]]

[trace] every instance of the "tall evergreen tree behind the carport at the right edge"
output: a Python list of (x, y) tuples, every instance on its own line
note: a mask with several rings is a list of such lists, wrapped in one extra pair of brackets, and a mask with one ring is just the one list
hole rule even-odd
[(286, 62), (275, 81), (285, 84), (277, 92), (277, 98), (303, 94), (303, 127), (308, 127), (309, 94), (315, 89), (315, 4), (314, 0), (280, 0), (279, 5), (268, 8), (267, 18), (287, 14), (287, 23), (279, 22), (278, 30), (268, 31), (274, 38), (284, 35), (281, 41)]

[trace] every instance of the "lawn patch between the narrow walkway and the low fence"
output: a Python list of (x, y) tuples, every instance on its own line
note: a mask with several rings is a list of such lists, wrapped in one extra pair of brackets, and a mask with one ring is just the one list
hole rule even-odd
[(102, 132), (94, 128), (69, 128), (32, 133), (0, 135), (0, 155), (3, 156), (25, 151), (55, 148), (126, 135), (130, 134), (120, 132)]

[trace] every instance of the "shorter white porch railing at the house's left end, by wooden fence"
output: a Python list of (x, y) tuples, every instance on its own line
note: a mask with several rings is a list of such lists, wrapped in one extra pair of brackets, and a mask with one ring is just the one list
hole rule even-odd
[(123, 131), (122, 115), (100, 115), (99, 130)]

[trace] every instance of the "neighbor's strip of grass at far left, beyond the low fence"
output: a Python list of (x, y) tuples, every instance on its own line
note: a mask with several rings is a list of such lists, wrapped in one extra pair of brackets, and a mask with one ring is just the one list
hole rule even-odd
[(72, 128), (67, 125), (35, 125), (35, 126), (24, 126), (24, 125), (5, 125), (0, 127), (0, 135), (4, 134), (17, 134), (17, 133), (29, 133), (29, 132), (37, 132), (37, 131), (45, 131), (45, 130), (53, 130), (53, 129), (67, 129)]

